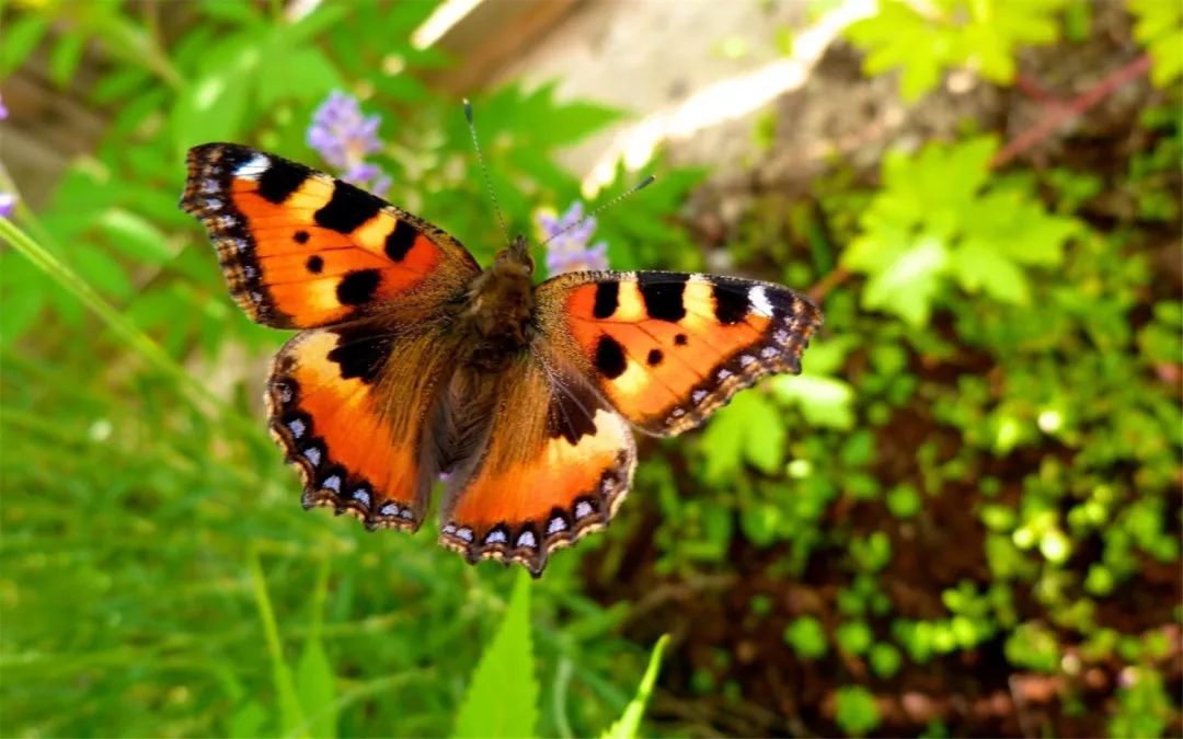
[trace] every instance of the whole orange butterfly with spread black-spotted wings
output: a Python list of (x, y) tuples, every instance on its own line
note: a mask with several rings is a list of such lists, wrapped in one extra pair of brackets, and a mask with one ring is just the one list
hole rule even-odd
[(416, 531), (446, 478), (440, 543), (539, 576), (603, 529), (633, 430), (694, 428), (743, 388), (800, 372), (821, 313), (788, 287), (675, 272), (538, 285), (523, 236), (481, 268), (453, 236), (303, 164), (231, 143), (188, 154), (181, 208), (231, 296), (296, 333), (266, 385), (305, 508)]

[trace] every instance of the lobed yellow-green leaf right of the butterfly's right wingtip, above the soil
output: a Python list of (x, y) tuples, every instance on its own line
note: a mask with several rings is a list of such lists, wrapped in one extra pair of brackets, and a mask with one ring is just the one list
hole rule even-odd
[(923, 326), (950, 280), (1002, 303), (1030, 299), (1024, 267), (1060, 264), (1080, 225), (1049, 213), (1029, 182), (990, 180), (996, 150), (993, 137), (976, 137), (886, 157), (884, 188), (841, 258), (868, 275), (865, 306)]

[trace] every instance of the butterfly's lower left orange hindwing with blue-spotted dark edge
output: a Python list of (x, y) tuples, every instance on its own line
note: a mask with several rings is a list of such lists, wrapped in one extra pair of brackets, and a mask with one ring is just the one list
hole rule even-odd
[(303, 331), (279, 351), (270, 427), (300, 471), (304, 507), (419, 529), (437, 473), (425, 420), (453, 352), (434, 331), (392, 335), (373, 322)]

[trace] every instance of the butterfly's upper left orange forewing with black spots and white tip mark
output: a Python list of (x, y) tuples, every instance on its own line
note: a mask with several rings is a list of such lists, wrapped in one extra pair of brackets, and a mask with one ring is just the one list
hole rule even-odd
[(238, 144), (189, 150), (181, 207), (209, 231), (231, 294), (264, 325), (315, 328), (438, 306), (479, 273), (452, 236), (380, 197)]

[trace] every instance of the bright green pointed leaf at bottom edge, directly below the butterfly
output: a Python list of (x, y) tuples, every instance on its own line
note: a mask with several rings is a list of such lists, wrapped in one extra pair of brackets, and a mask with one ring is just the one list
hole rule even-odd
[(523, 569), (513, 584), (505, 618), (472, 673), (453, 737), (534, 737), (537, 726), (530, 576)]

